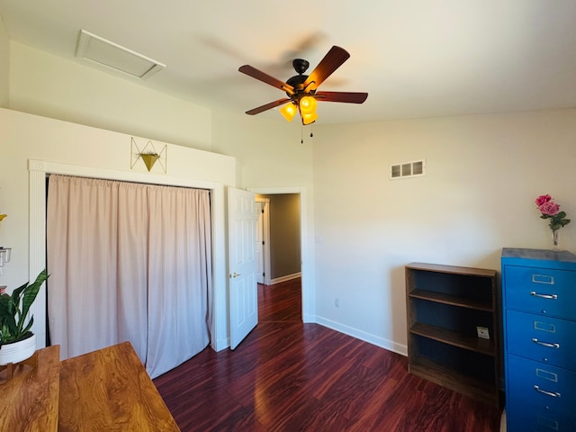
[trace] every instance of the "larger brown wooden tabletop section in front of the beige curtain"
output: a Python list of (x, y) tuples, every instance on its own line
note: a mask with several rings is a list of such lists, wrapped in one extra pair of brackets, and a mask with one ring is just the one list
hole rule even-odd
[(61, 362), (58, 430), (180, 429), (130, 342), (123, 342)]

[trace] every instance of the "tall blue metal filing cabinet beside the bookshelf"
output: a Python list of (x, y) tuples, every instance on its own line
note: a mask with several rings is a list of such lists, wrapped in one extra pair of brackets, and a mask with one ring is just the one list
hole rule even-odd
[(576, 255), (502, 249), (508, 432), (576, 431)]

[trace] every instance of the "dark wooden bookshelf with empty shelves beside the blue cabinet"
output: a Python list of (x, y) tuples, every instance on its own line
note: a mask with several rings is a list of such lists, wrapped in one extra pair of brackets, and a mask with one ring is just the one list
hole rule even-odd
[(500, 405), (496, 271), (425, 263), (405, 271), (410, 374)]

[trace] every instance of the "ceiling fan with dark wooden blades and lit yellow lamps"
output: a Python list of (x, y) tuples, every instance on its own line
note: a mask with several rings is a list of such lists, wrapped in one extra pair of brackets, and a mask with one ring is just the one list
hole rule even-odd
[(304, 75), (310, 63), (302, 58), (293, 60), (293, 67), (298, 75), (283, 81), (276, 79), (274, 76), (258, 70), (256, 67), (244, 65), (238, 68), (238, 71), (252, 76), (266, 84), (273, 85), (283, 90), (288, 97), (278, 99), (275, 102), (266, 103), (247, 111), (249, 115), (265, 112), (276, 106), (284, 105), (280, 112), (287, 121), (292, 121), (296, 112), (300, 112), (302, 124), (311, 124), (318, 119), (316, 113), (316, 101), (323, 102), (344, 102), (344, 103), (364, 103), (368, 97), (367, 93), (356, 92), (320, 92), (318, 87), (326, 80), (338, 67), (350, 58), (346, 49), (333, 46), (324, 58), (320, 60), (318, 66), (310, 75)]

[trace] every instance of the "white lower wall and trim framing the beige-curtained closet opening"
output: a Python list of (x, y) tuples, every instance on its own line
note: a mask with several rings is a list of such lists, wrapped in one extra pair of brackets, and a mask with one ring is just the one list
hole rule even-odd
[[(48, 162), (35, 164), (37, 166), (58, 166), (59, 174), (80, 173), (101, 178), (212, 189), (215, 191), (212, 195), (214, 297), (218, 302), (214, 311), (217, 330), (212, 342), (217, 343), (216, 349), (221, 349), (226, 346), (228, 334), (223, 186), (234, 185), (236, 162), (233, 157), (154, 141), (157, 149), (166, 145), (167, 172), (148, 173), (141, 161), (134, 168), (131, 167), (132, 138), (110, 130), (0, 109), (0, 212), (8, 214), (0, 227), (0, 245), (12, 247), (12, 260), (4, 266), (0, 285), (8, 285), (11, 291), (33, 279), (45, 262), (39, 257), (43, 256), (44, 238), (34, 225), (34, 220), (43, 223), (44, 208), (39, 202), (45, 198), (42, 189), (45, 179), (43, 174), (35, 175), (31, 182), (39, 184), (29, 182), (29, 159)], [(140, 143), (147, 142), (147, 139), (134, 138)], [(33, 209), (40, 209), (40, 214), (33, 214)], [(38, 267), (36, 265), (40, 269), (35, 268)], [(40, 306), (34, 311), (34, 331), (39, 335), (43, 331), (43, 312)]]

